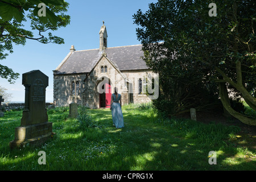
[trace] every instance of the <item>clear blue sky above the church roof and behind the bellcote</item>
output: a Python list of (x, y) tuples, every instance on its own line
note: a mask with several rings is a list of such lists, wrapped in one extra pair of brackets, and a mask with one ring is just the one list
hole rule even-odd
[[(46, 101), (53, 101), (53, 70), (69, 53), (69, 48), (75, 46), (77, 51), (98, 48), (100, 44), (100, 28), (102, 20), (108, 31), (108, 47), (129, 46), (141, 44), (137, 40), (133, 24), (133, 15), (141, 9), (144, 13), (148, 4), (157, 0), (109, 0), (82, 1), (66, 0), (69, 3), (67, 14), (71, 16), (71, 23), (53, 32), (53, 35), (64, 38), (65, 44), (41, 44), (36, 40), (27, 40), (25, 46), (13, 45), (14, 53), (7, 59), (0, 60), (2, 65), (12, 68), (20, 74), (15, 84), (0, 78), (0, 85), (12, 93), (11, 101), (24, 101), (24, 86), (22, 74), (39, 69), (49, 77), (46, 88)], [(29, 24), (25, 24), (30, 29)], [(35, 34), (36, 37), (36, 34)]]

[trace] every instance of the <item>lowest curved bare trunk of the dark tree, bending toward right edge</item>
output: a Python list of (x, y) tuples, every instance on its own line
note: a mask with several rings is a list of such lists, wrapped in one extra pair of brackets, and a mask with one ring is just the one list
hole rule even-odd
[(239, 119), (242, 123), (245, 123), (246, 125), (256, 126), (256, 121), (253, 118), (248, 118), (246, 115), (243, 115), (241, 113), (238, 113), (235, 111), (231, 106), (229, 102), (229, 96), (228, 96), (228, 90), (226, 89), (226, 84), (221, 82), (218, 84), (218, 89), (220, 90), (220, 98), (222, 105), (225, 107), (225, 109), (233, 115), (233, 117)]

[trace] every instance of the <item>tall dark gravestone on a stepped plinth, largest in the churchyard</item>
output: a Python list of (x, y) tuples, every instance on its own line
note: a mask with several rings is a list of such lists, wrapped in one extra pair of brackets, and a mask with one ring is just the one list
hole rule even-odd
[(23, 73), (25, 105), (20, 126), (15, 128), (15, 139), (11, 148), (40, 146), (53, 137), (52, 122), (48, 122), (46, 109), (46, 87), (48, 76), (39, 70)]

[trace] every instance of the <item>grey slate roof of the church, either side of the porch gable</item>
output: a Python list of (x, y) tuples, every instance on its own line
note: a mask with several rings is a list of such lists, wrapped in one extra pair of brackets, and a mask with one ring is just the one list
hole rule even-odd
[[(149, 69), (141, 59), (143, 56), (142, 45), (110, 47), (106, 48), (105, 52), (108, 59), (115, 63), (120, 71)], [(101, 56), (100, 49), (69, 53), (56, 68), (55, 75), (89, 73)]]

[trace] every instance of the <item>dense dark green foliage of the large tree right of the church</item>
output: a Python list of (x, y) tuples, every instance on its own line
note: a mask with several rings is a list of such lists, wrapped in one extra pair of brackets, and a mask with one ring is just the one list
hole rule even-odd
[(256, 84), (255, 2), (214, 1), (217, 16), (212, 17), (210, 2), (159, 0), (133, 15), (143, 59), (159, 73), (158, 109), (175, 114), (219, 104), (218, 82), (235, 87), (251, 107), (256, 103), (249, 94)]

